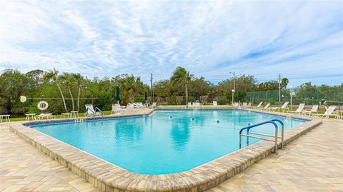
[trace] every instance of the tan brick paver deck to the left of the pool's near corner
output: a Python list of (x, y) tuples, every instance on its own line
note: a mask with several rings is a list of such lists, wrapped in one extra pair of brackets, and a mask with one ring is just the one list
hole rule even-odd
[(99, 191), (0, 126), (0, 191)]

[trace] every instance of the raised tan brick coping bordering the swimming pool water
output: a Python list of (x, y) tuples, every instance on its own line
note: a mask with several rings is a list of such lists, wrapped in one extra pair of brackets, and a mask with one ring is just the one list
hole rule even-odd
[[(146, 111), (139, 115), (149, 115), (153, 111)], [(293, 141), (321, 122), (319, 119), (312, 119), (285, 131), (284, 143)], [(24, 126), (23, 123), (11, 123), (11, 131), (102, 191), (205, 191), (252, 166), (274, 151), (274, 143), (259, 141), (189, 171), (165, 175), (144, 175), (126, 171), (56, 138)]]

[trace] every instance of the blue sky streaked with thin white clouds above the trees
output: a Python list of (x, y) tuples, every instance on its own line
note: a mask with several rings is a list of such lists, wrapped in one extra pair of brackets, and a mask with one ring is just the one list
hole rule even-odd
[(0, 1), (0, 70), (343, 82), (343, 1)]

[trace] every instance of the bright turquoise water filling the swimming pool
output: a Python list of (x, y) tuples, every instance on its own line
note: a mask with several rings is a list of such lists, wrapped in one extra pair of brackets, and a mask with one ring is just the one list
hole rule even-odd
[[(237, 151), (240, 128), (273, 118), (281, 119), (285, 130), (304, 123), (241, 110), (163, 110), (150, 116), (32, 128), (128, 171), (166, 174), (187, 171)], [(274, 133), (270, 124), (254, 130)]]

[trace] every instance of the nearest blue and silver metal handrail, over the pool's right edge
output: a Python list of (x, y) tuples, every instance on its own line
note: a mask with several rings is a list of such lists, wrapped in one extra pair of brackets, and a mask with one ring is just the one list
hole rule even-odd
[[(259, 138), (259, 139), (266, 140), (266, 141), (273, 141), (275, 143), (274, 144), (274, 148), (275, 148), (274, 153), (277, 153), (277, 138), (280, 138), (280, 137), (277, 136), (278, 133), (279, 133), (278, 126), (277, 126), (277, 123), (275, 123), (274, 121), (277, 121), (280, 124), (282, 124), (282, 142), (283, 142), (283, 123), (282, 123), (282, 121), (279, 121), (278, 119), (272, 119), (270, 121), (264, 121), (262, 123), (257, 123), (257, 124), (251, 125), (251, 126), (247, 126), (247, 127), (241, 128), (241, 130), (239, 131), (239, 148), (242, 148), (242, 136), (246, 136), (247, 137), (247, 146), (249, 146), (249, 137)], [(251, 135), (249, 135), (249, 131), (250, 131), (251, 128), (254, 128), (254, 127), (257, 127), (257, 126), (262, 126), (262, 125), (267, 124), (267, 123), (271, 123), (271, 124), (274, 125), (275, 135), (271, 136), (271, 137), (274, 137), (274, 140), (271, 140), (271, 139), (268, 139), (268, 138), (262, 138), (262, 137), (258, 137), (258, 136), (251, 136)], [(247, 134), (242, 134), (242, 131), (244, 131), (246, 129), (247, 129)], [(263, 133), (257, 133), (257, 132), (252, 132), (252, 134), (262, 135), (262, 136), (270, 136), (270, 135), (266, 135), (266, 134), (263, 134)]]

